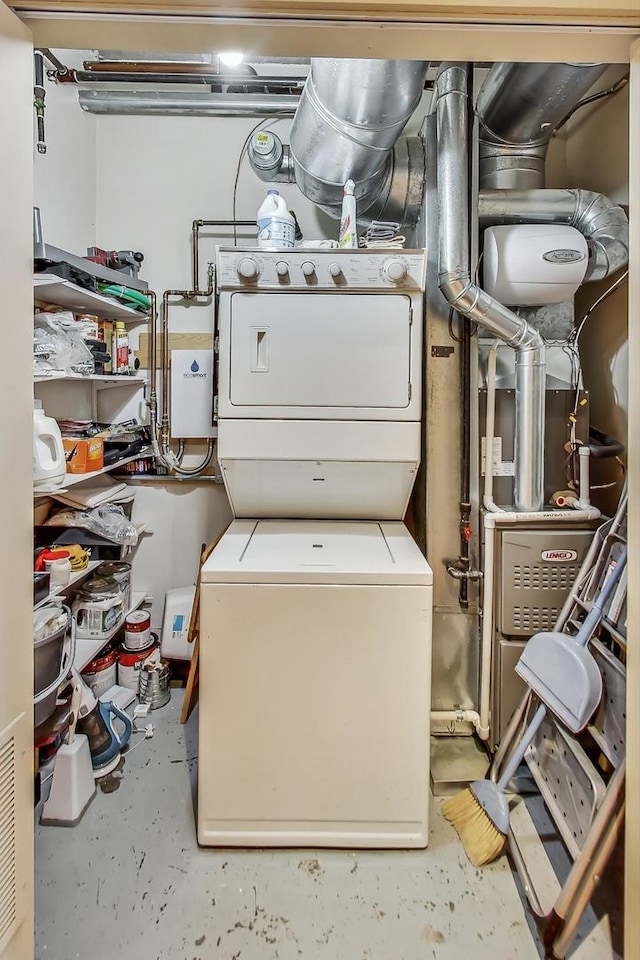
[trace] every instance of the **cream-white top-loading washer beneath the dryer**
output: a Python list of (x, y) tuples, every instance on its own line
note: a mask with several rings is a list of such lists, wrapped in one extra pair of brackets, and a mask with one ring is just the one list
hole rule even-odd
[(432, 573), (403, 524), (236, 520), (201, 589), (199, 842), (425, 847)]

